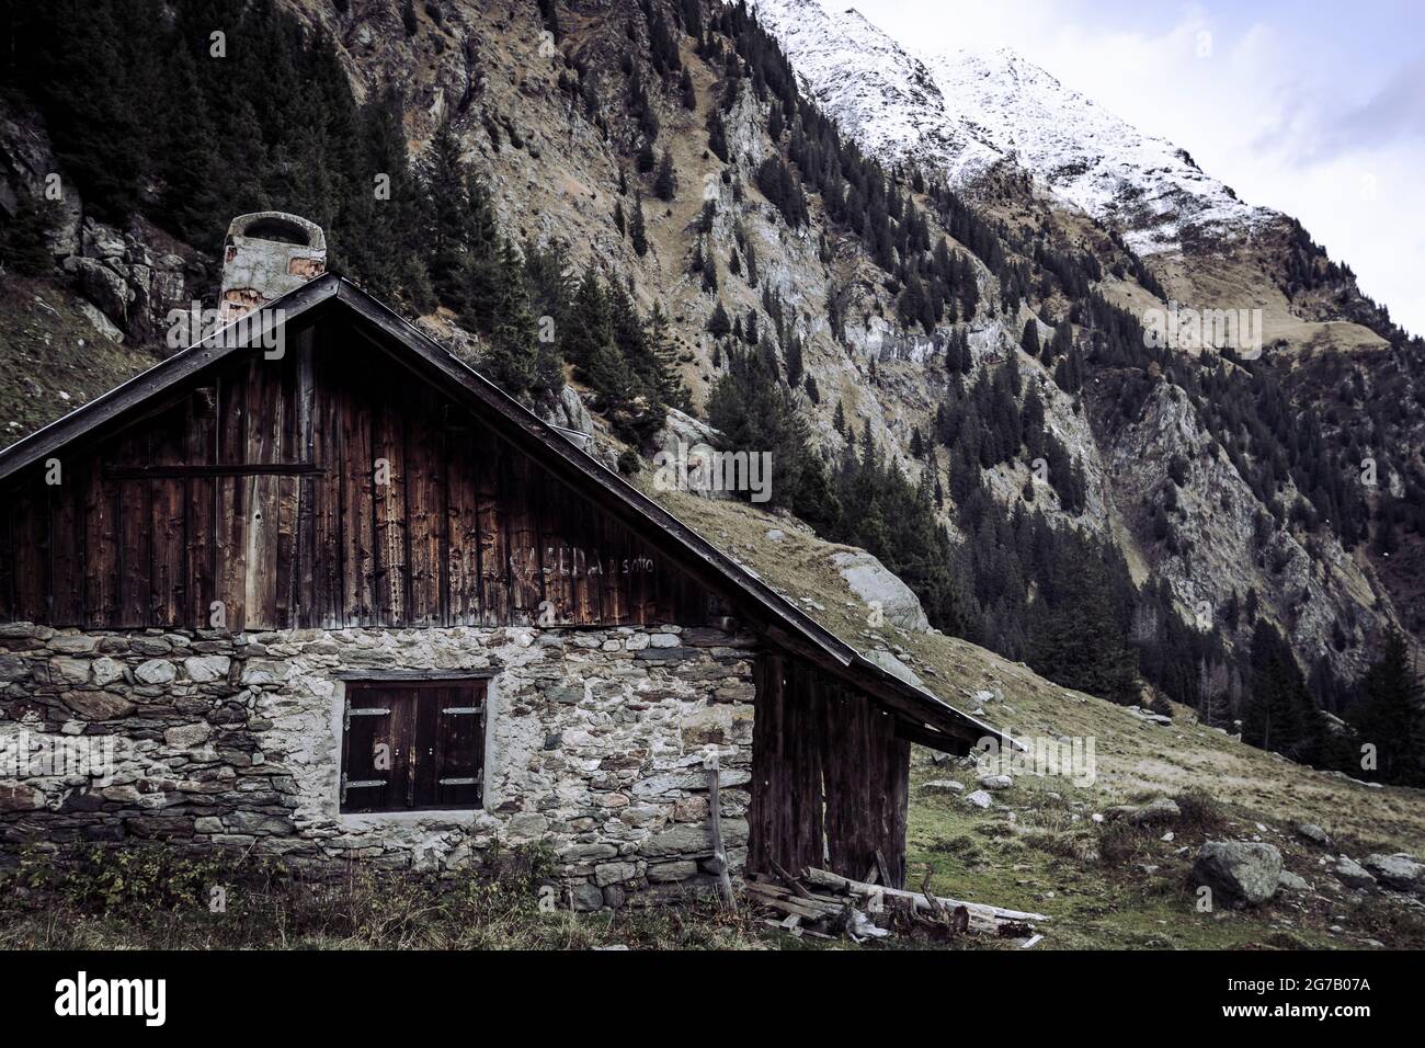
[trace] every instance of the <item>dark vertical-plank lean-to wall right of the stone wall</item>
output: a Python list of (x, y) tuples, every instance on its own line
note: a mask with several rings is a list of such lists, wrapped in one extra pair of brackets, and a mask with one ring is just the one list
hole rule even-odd
[(879, 850), (901, 887), (911, 744), (895, 717), (792, 656), (761, 654), (755, 677), (748, 870), (861, 880)]

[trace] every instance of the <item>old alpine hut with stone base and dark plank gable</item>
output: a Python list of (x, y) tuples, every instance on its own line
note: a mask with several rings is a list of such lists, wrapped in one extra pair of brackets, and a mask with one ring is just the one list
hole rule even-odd
[(911, 744), (993, 729), (353, 284), (248, 298), (259, 342), (217, 331), (0, 452), (4, 850), (542, 843), (576, 907), (623, 905), (708, 883), (715, 754), (734, 873), (903, 880)]

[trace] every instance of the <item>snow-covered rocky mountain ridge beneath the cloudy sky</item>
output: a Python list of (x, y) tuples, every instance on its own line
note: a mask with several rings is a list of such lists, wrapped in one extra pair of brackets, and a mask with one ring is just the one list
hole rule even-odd
[(1188, 231), (1277, 217), (1009, 47), (916, 54), (854, 9), (754, 7), (809, 94), (875, 157), (926, 164), (955, 185), (1012, 158), (1063, 204), (1120, 230), (1139, 254), (1178, 250)]

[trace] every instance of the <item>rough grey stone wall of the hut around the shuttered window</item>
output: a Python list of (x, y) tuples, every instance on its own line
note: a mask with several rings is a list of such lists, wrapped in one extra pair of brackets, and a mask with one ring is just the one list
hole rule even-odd
[[(142, 838), (415, 870), (543, 844), (577, 908), (707, 887), (711, 751), (732, 865), (747, 853), (754, 646), (677, 626), (234, 636), (0, 625), (0, 843)], [(494, 674), (483, 810), (339, 814), (336, 674), (399, 669)]]

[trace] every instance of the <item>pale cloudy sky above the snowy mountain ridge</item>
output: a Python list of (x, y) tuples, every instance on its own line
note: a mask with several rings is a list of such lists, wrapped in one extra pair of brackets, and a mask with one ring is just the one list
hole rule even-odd
[(1422, 0), (819, 0), (912, 50), (1007, 44), (1250, 204), (1301, 220), (1425, 334)]

